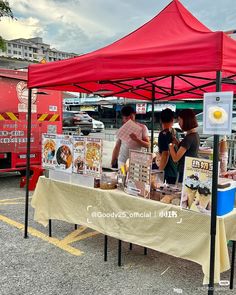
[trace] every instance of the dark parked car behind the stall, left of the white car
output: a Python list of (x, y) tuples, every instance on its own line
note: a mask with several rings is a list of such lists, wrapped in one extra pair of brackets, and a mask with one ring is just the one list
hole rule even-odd
[(80, 128), (83, 135), (89, 135), (93, 130), (93, 119), (85, 112), (63, 112), (63, 129), (76, 130)]

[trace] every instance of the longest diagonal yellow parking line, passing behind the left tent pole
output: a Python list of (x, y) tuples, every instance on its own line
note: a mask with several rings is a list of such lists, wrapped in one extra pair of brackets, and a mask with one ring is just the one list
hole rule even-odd
[[(7, 224), (9, 224), (9, 225), (11, 225), (13, 227), (16, 227), (19, 230), (22, 230), (22, 231), (24, 230), (24, 225), (22, 223), (19, 223), (19, 222), (15, 221), (15, 220), (12, 220), (12, 219), (10, 219), (10, 218), (8, 218), (6, 216), (0, 215), (0, 221), (3, 221), (3, 222), (5, 222), (5, 223), (7, 223)], [(81, 256), (83, 254), (82, 251), (80, 251), (80, 250), (78, 250), (78, 249), (76, 249), (74, 247), (71, 247), (68, 244), (64, 244), (64, 243), (62, 243), (62, 241), (60, 241), (60, 240), (58, 240), (56, 238), (50, 238), (49, 236), (41, 233), (40, 231), (38, 231), (38, 230), (36, 230), (36, 229), (34, 229), (32, 227), (28, 228), (28, 233), (30, 235), (34, 236), (34, 237), (37, 237), (37, 238), (39, 238), (39, 239), (41, 239), (43, 241), (48, 242), (48, 243), (50, 243), (50, 244), (52, 244), (52, 245), (54, 245), (54, 246), (56, 246), (56, 247), (58, 247), (60, 249), (72, 254), (72, 255)]]

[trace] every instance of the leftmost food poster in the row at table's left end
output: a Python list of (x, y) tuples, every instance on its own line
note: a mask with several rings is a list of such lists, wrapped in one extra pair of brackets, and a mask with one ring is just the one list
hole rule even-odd
[(55, 169), (56, 165), (56, 134), (42, 134), (42, 167)]

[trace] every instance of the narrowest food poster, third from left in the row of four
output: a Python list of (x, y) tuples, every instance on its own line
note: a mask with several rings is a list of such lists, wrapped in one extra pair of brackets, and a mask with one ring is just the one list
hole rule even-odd
[(73, 172), (83, 174), (85, 157), (85, 138), (73, 136)]

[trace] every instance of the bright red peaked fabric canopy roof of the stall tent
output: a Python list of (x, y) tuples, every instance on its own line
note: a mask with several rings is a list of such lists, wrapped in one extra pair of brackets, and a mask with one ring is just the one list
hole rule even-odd
[(150, 100), (154, 85), (156, 99), (201, 98), (215, 90), (216, 71), (232, 82), (235, 57), (236, 41), (212, 32), (173, 0), (142, 27), (104, 48), (30, 65), (28, 86)]

